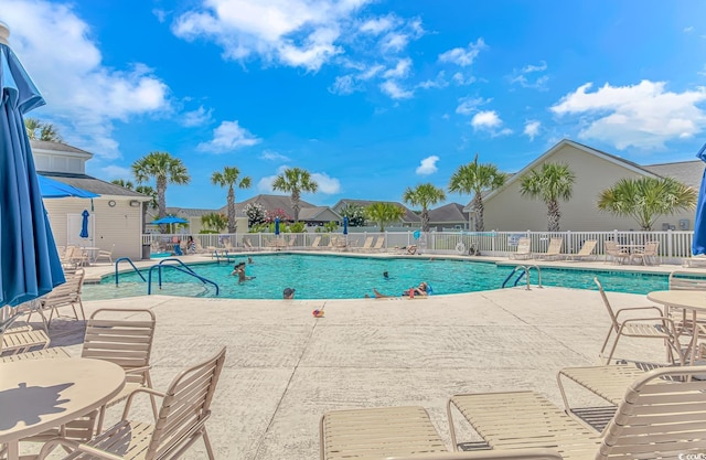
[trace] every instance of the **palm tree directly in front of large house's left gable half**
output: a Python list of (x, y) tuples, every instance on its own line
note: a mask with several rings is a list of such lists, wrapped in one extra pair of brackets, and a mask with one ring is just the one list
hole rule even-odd
[(533, 169), (522, 178), (520, 193), (547, 205), (548, 232), (559, 232), (559, 200), (569, 201), (575, 181), (576, 174), (566, 163), (544, 163), (539, 171)]

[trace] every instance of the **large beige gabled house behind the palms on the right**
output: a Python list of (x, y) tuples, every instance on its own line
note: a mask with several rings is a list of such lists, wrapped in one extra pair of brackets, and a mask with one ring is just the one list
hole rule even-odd
[[(484, 196), (483, 221), (485, 229), (537, 232), (547, 229), (546, 204), (542, 201), (523, 197), (520, 193), (522, 178), (531, 170), (547, 162), (568, 163), (576, 174), (571, 199), (568, 202), (559, 202), (561, 231), (639, 231), (638, 223), (632, 218), (617, 217), (598, 211), (599, 193), (612, 186), (620, 179), (640, 176), (671, 176), (698, 190), (704, 172), (704, 163), (699, 160), (639, 165), (565, 139), (513, 174), (504, 186)], [(470, 227), (473, 228), (472, 204), (469, 203), (463, 211), (471, 214)], [(689, 211), (673, 216), (661, 216), (654, 229), (693, 229), (694, 215), (694, 211)]]

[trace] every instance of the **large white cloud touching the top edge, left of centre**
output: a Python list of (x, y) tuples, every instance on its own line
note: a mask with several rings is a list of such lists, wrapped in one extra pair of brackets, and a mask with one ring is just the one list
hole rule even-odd
[(227, 58), (257, 54), (318, 71), (343, 52), (335, 44), (342, 29), (370, 1), (208, 0), (176, 18), (172, 31), (185, 40), (213, 40)]

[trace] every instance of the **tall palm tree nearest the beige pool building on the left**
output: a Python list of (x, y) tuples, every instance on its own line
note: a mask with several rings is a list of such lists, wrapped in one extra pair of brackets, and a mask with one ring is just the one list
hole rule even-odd
[(158, 218), (167, 214), (167, 184), (185, 185), (191, 182), (184, 163), (169, 152), (149, 152), (132, 163), (132, 174), (139, 184), (151, 178), (156, 180)]

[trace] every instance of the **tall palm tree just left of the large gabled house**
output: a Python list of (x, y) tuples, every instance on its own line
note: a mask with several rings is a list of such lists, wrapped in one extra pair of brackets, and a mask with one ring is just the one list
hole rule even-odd
[(472, 162), (461, 164), (451, 175), (449, 192), (473, 194), (471, 204), (475, 212), (475, 232), (484, 232), (485, 229), (483, 222), (483, 212), (485, 211), (483, 193), (503, 186), (506, 179), (507, 174), (500, 172), (496, 165), (479, 163), (478, 154)]

